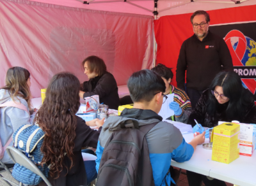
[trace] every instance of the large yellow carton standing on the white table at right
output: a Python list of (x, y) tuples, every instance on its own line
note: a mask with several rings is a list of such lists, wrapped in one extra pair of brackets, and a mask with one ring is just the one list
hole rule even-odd
[(212, 130), (212, 160), (229, 164), (239, 157), (240, 125), (223, 123)]

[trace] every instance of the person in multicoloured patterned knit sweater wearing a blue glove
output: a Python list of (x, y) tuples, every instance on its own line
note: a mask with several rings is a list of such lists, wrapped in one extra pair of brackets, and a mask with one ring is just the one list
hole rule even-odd
[(173, 78), (172, 69), (167, 68), (163, 64), (157, 64), (157, 66), (151, 70), (155, 71), (164, 80), (166, 87), (164, 94), (167, 95), (174, 93), (173, 102), (170, 103), (169, 108), (174, 111), (175, 120), (187, 123), (188, 117), (192, 111), (191, 103), (184, 90), (170, 84)]

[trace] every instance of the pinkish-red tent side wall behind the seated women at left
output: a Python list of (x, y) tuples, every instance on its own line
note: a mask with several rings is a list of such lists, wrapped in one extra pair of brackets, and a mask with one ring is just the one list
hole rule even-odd
[(21, 66), (31, 73), (33, 97), (60, 71), (88, 80), (81, 62), (89, 55), (104, 59), (118, 85), (152, 66), (150, 16), (0, 0), (0, 23), (0, 87), (8, 68)]

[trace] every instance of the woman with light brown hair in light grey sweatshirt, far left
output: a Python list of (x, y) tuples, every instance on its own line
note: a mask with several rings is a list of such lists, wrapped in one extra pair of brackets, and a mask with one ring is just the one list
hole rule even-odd
[[(0, 89), (0, 104), (13, 102), (16, 106), (23, 106), (24, 110), (15, 106), (1, 107), (0, 113), (0, 138), (2, 145), (12, 146), (12, 134), (21, 125), (33, 124), (31, 109), (30, 73), (27, 69), (13, 67), (6, 74), (6, 85)], [(10, 140), (11, 139), (11, 140)], [(2, 162), (13, 164), (7, 152), (4, 152)]]

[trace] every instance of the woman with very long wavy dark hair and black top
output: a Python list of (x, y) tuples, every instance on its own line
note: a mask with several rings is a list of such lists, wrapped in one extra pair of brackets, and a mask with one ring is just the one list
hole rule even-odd
[[(45, 132), (42, 163), (51, 164), (49, 181), (52, 185), (86, 185), (97, 176), (95, 161), (88, 167), (81, 148), (97, 148), (104, 120), (85, 123), (76, 116), (80, 106), (79, 87), (79, 80), (71, 73), (54, 75), (47, 87), (44, 104), (36, 115), (36, 123)], [(97, 125), (99, 131), (88, 125)]]

